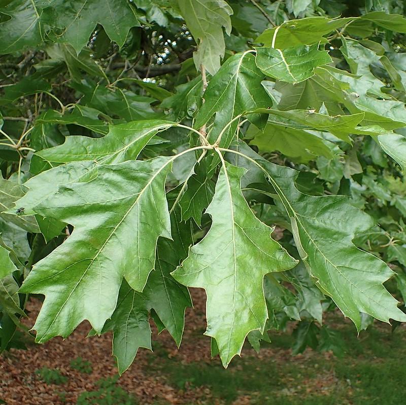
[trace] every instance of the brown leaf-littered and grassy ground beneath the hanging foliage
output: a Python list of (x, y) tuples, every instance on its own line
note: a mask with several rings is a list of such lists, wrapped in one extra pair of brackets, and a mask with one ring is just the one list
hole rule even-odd
[[(350, 322), (333, 316), (328, 321), (346, 341), (344, 358), (311, 349), (292, 356), (292, 338), (278, 333), (259, 354), (246, 345), (243, 357), (224, 370), (218, 358), (210, 358), (210, 339), (202, 336), (204, 291), (194, 289), (192, 295), (195, 308), (188, 309), (180, 350), (166, 332), (157, 336), (155, 330), (154, 353), (140, 349), (115, 382), (111, 335), (86, 339), (90, 326), (82, 323), (65, 340), (12, 349), (0, 358), (0, 398), (8, 405), (402, 403), (406, 327), (391, 333), (389, 325), (380, 324), (357, 338)], [(35, 299), (28, 305), (30, 326), (40, 305)]]

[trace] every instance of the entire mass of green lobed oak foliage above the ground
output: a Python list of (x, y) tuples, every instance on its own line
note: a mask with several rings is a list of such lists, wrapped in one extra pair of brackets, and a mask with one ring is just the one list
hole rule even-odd
[(0, 0), (0, 351), (28, 294), (37, 342), (87, 319), (120, 373), (188, 287), (224, 366), (406, 320), (403, 6)]

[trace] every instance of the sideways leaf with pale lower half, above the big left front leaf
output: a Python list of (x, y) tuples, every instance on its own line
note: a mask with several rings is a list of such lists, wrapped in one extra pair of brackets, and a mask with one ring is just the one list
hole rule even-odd
[[(170, 121), (137, 121), (111, 125), (103, 138), (68, 136), (63, 145), (41, 151), (37, 156), (51, 166), (24, 183), (27, 194), (16, 202), (24, 207), (25, 214), (45, 198), (58, 191), (59, 186), (89, 181), (97, 175), (100, 164), (115, 164), (137, 159), (141, 150), (159, 131), (170, 128)], [(55, 224), (54, 224), (55, 225)]]

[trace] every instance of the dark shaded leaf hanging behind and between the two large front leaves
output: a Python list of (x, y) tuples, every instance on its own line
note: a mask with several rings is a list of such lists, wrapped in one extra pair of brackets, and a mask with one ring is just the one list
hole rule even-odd
[(158, 240), (156, 270), (149, 275), (143, 292), (133, 290), (123, 281), (117, 307), (103, 328), (103, 332), (113, 330), (113, 354), (117, 357), (120, 374), (128, 369), (139, 347), (151, 349), (148, 323), (151, 309), (178, 347), (181, 343), (185, 309), (192, 303), (187, 287), (175, 281), (170, 273), (185, 259), (193, 239), (190, 223), (181, 224), (177, 210), (171, 215), (171, 229), (173, 240)]

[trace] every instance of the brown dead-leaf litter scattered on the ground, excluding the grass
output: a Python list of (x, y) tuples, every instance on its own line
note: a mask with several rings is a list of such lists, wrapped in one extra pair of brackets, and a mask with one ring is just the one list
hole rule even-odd
[[(219, 362), (219, 359), (211, 359), (210, 338), (202, 336), (206, 329), (205, 306), (206, 294), (202, 289), (192, 288), (194, 309), (187, 309), (185, 332), (181, 348), (178, 349), (171, 336), (163, 331), (157, 334), (153, 326), (153, 348), (158, 348), (156, 353), (140, 349), (136, 359), (119, 379), (119, 384), (127, 392), (134, 395), (141, 404), (170, 403), (170, 404), (221, 404), (218, 398), (211, 397), (210, 390), (205, 387), (186, 386), (179, 390), (168, 384), (166, 376), (154, 372), (154, 363), (167, 356), (180, 364), (190, 362)], [(31, 299), (28, 303), (29, 317), (25, 324), (32, 327), (41, 302)], [(12, 349), (5, 356), (0, 357), (0, 398), (8, 405), (75, 405), (78, 396), (84, 391), (97, 389), (96, 382), (100, 379), (117, 375), (115, 358), (112, 357), (112, 335), (106, 333), (100, 337), (86, 338), (90, 324), (83, 322), (75, 332), (63, 340), (61, 337), (54, 338), (42, 345), (32, 345), (28, 350)], [(164, 353), (164, 354), (162, 354)], [(298, 367), (306, 367), (308, 356), (312, 355), (309, 350), (303, 355), (291, 356), (291, 350), (265, 347), (256, 354), (251, 348), (245, 347), (243, 356), (257, 356), (259, 360), (276, 361), (283, 364), (294, 361)], [(331, 356), (330, 353), (324, 353)], [(73, 369), (71, 361), (81, 357), (89, 360), (92, 364), (91, 374), (83, 374)], [(47, 367), (59, 370), (60, 374), (67, 377), (64, 384), (46, 384), (35, 373), (36, 370)], [(151, 368), (152, 367), (152, 368)], [(308, 381), (315, 392), (327, 391), (335, 381), (331, 376), (326, 376), (326, 381)], [(64, 399), (58, 394), (64, 392)], [(295, 392), (291, 393), (295, 395)], [(249, 404), (249, 396), (242, 396), (233, 402), (233, 405)]]

